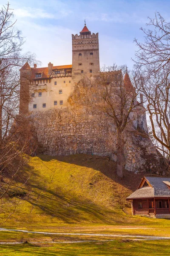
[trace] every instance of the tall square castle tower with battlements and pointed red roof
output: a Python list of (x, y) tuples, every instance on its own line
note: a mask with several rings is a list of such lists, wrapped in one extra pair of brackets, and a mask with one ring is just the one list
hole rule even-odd
[(72, 84), (74, 86), (84, 76), (91, 77), (98, 73), (99, 38), (92, 34), (86, 24), (80, 35), (72, 35)]

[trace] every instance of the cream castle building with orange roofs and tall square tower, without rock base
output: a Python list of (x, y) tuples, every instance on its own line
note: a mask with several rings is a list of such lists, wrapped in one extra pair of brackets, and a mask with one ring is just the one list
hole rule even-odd
[[(91, 77), (98, 73), (99, 38), (98, 33), (92, 34), (85, 25), (80, 35), (72, 35), (72, 65), (31, 68), (28, 62), (20, 69), (21, 76), (27, 73), (31, 78), (31, 101), (23, 108), (26, 111), (47, 111), (51, 108), (66, 108), (68, 97), (74, 84), (85, 76)], [(22, 84), (21, 84), (22, 87)], [(22, 90), (22, 88), (21, 88)], [(20, 111), (22, 111), (20, 97)]]

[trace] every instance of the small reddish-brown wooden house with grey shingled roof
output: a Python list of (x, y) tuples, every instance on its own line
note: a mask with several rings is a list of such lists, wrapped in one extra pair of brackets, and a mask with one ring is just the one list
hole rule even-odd
[(143, 177), (126, 200), (132, 204), (133, 215), (170, 218), (170, 178)]

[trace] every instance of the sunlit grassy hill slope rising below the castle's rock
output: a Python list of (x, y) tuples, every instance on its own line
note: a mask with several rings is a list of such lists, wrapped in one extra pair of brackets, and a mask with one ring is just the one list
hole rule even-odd
[(20, 185), (20, 193), (25, 196), (6, 224), (130, 224), (133, 218), (122, 209), (127, 207), (125, 198), (136, 189), (142, 175), (124, 170), (121, 180), (115, 167), (107, 157), (85, 154), (30, 157), (14, 188), (14, 198)]

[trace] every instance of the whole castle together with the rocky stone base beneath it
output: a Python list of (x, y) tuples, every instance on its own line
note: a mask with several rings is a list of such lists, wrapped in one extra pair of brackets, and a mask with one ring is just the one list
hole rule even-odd
[[(86, 25), (80, 35), (72, 35), (72, 65), (54, 66), (50, 62), (48, 67), (37, 68), (36, 64), (30, 67), (26, 63), (20, 69), (20, 114), (28, 113), (33, 118), (32, 125), (43, 154), (93, 153), (110, 156), (116, 161), (113, 140), (116, 130), (111, 119), (89, 111), (88, 106), (74, 108), (74, 102), (70, 104), (75, 85), (99, 71), (98, 33), (91, 34)], [(25, 80), (29, 81), (29, 86)], [(133, 88), (127, 73), (123, 83)], [(145, 113), (136, 116), (127, 133), (125, 169), (131, 172), (159, 170), (160, 159), (147, 135)], [(111, 138), (113, 143), (110, 143)]]

